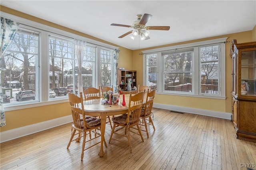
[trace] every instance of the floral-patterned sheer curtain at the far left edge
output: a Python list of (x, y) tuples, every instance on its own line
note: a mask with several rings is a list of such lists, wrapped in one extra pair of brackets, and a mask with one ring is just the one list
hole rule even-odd
[[(8, 46), (12, 42), (15, 33), (19, 27), (20, 23), (14, 22), (12, 20), (1, 17), (1, 27), (0, 27), (0, 74), (2, 70), (5, 70), (5, 61), (4, 53), (8, 49)], [(4, 105), (2, 98), (2, 75), (0, 78), (0, 127), (5, 126), (5, 114), (4, 114)]]

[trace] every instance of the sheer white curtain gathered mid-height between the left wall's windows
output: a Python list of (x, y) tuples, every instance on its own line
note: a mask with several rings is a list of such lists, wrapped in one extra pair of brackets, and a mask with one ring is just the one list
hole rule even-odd
[(75, 41), (75, 51), (76, 51), (76, 59), (78, 64), (78, 94), (83, 92), (83, 80), (82, 80), (82, 63), (84, 59), (84, 52), (86, 48), (86, 42), (74, 39)]

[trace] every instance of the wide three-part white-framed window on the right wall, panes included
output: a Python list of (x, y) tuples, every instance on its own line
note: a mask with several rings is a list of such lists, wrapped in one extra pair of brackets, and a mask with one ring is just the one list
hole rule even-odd
[(143, 84), (159, 94), (225, 99), (226, 38), (144, 53)]

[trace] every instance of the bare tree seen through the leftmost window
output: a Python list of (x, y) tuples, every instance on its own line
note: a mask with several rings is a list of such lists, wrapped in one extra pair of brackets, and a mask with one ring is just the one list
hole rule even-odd
[(20, 86), (23, 86), (26, 90), (35, 90), (35, 82), (31, 82), (28, 78), (36, 69), (35, 60), (38, 57), (38, 39), (36, 34), (28, 35), (26, 31), (24, 33), (17, 32), (4, 56), (10, 74), (9, 81), (12, 81), (11, 74), (21, 70)]

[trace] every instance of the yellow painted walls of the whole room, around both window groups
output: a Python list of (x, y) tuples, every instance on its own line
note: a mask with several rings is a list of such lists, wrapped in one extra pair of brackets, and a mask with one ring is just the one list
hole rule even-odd
[[(41, 20), (34, 16), (30, 16), (30, 15), (18, 12), (16, 10), (6, 8), (4, 6), (0, 6), (0, 10), (2, 12), (6, 12), (15, 16), (26, 18), (28, 20), (36, 21), (38, 23), (42, 23), (45, 25), (49, 25), (51, 27), (55, 27), (55, 28), (62, 29), (64, 31), (68, 31), (71, 33), (75, 33), (77, 35), (81, 35), (90, 39), (94, 39), (96, 41), (101, 41), (103, 43), (108, 43), (110, 45), (118, 46), (118, 45), (103, 41), (101, 39), (98, 39), (96, 37), (92, 37), (90, 35), (86, 35), (84, 33), (80, 33), (78, 31), (75, 31), (66, 27), (62, 27), (61, 25), (57, 25), (55, 23)], [(194, 41), (187, 41), (182, 43), (175, 43), (175, 44), (160, 46), (160, 47), (167, 47), (170, 45), (178, 45), (178, 44), (184, 44), (184, 43), (204, 41), (208, 39), (228, 37), (227, 41), (230, 41), (230, 42), (226, 44), (226, 96), (227, 96), (227, 99), (216, 100), (216, 99), (157, 94), (155, 102), (160, 104), (170, 104), (170, 105), (176, 105), (176, 106), (193, 107), (198, 109), (206, 109), (206, 110), (212, 110), (212, 111), (231, 113), (231, 94), (230, 94), (231, 76), (230, 74), (232, 70), (232, 60), (229, 56), (230, 43), (232, 39), (237, 39), (238, 43), (255, 41), (256, 40), (255, 35), (256, 35), (256, 28), (254, 27), (252, 31), (246, 31), (242, 33), (234, 33), (230, 35), (223, 35), (218, 37), (198, 39)], [(160, 48), (160, 47), (154, 47), (154, 48)], [(143, 56), (139, 55), (139, 53), (141, 53), (142, 50), (146, 50), (146, 49), (141, 49), (140, 51), (139, 50), (132, 51), (130, 49), (120, 47), (119, 50), (120, 50), (120, 53), (119, 53), (118, 67), (124, 67), (125, 69), (129, 69), (129, 70), (137, 70), (138, 84), (142, 84), (142, 76), (143, 76), (142, 75), (142, 69), (143, 69), (142, 57)], [(64, 117), (66, 115), (70, 115), (70, 108), (67, 103), (62, 103), (62, 104), (54, 104), (54, 105), (48, 105), (48, 106), (28, 108), (28, 109), (20, 109), (15, 111), (6, 111), (5, 115), (6, 115), (6, 126), (0, 128), (1, 132), (15, 129), (18, 127), (32, 125), (32, 124), (43, 122), (43, 121), (48, 121), (51, 119), (56, 119), (59, 117)]]

